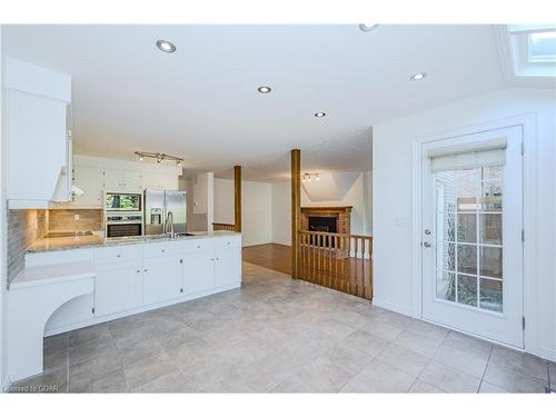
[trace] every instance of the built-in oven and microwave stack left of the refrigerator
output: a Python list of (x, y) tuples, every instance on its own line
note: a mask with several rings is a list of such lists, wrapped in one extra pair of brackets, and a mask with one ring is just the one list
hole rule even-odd
[(106, 192), (105, 225), (108, 238), (141, 236), (142, 193)]

